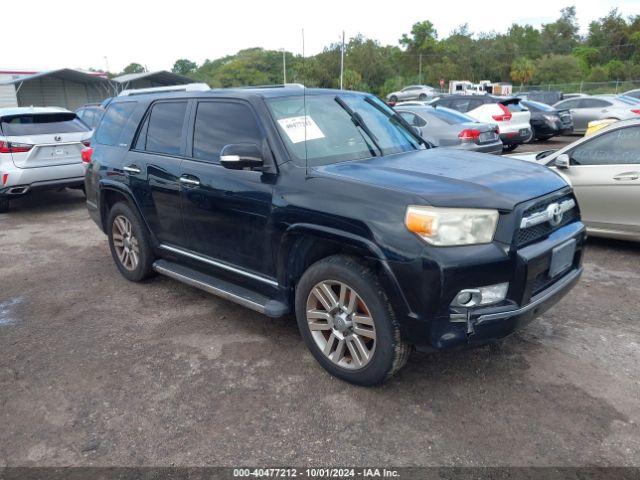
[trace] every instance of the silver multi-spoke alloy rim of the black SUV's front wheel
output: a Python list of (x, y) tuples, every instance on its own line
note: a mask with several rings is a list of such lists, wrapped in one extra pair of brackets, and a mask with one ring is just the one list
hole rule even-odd
[(316, 345), (339, 367), (365, 367), (376, 348), (376, 328), (370, 310), (344, 282), (325, 280), (307, 297), (307, 324)]

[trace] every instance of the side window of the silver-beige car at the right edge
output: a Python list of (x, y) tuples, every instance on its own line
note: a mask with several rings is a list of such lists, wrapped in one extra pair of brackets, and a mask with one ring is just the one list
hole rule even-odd
[(589, 140), (571, 152), (576, 165), (640, 164), (640, 127), (608, 132)]

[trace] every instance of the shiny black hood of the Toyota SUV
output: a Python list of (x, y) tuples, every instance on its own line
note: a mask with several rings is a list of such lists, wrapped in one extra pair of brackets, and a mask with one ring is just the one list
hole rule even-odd
[(441, 148), (336, 163), (314, 171), (404, 191), (441, 207), (511, 210), (567, 185), (543, 165)]

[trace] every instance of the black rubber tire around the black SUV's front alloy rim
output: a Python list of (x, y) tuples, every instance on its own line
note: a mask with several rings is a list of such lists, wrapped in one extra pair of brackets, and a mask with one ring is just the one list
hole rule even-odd
[[(375, 349), (371, 360), (360, 369), (347, 369), (333, 363), (316, 344), (307, 321), (307, 299), (323, 281), (343, 282), (357, 292), (366, 304), (375, 325)], [(411, 346), (400, 337), (400, 330), (387, 295), (374, 272), (354, 257), (335, 255), (311, 265), (296, 287), (296, 319), (300, 334), (318, 363), (332, 375), (356, 385), (384, 382), (407, 362)]]

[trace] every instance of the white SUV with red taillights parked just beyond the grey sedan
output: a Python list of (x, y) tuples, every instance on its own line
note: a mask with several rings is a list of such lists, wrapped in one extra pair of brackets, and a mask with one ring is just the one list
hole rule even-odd
[(496, 123), (500, 140), (507, 151), (531, 139), (531, 114), (520, 106), (517, 97), (503, 98), (492, 95), (450, 95), (436, 98), (431, 105), (447, 107), (466, 113), (479, 122)]

